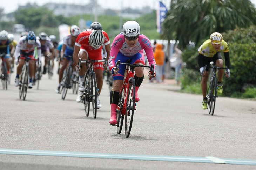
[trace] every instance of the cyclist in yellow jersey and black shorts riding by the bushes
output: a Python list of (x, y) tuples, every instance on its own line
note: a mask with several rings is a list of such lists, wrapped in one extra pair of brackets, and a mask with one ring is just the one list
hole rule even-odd
[[(206, 71), (204, 71), (204, 66), (209, 66), (210, 62), (213, 61), (217, 67), (223, 67), (223, 59), (221, 56), (221, 51), (224, 52), (225, 56), (225, 64), (228, 67), (228, 73), (225, 72), (226, 77), (230, 77), (230, 58), (229, 58), (229, 49), (228, 49), (228, 43), (226, 43), (222, 35), (218, 32), (214, 32), (210, 35), (210, 39), (206, 40), (198, 49), (199, 55), (197, 57), (198, 65), (200, 67), (200, 73), (202, 75), (202, 81), (201, 81), (201, 88), (203, 93), (203, 102), (202, 102), (202, 109), (207, 109), (207, 97), (206, 97), (206, 91), (207, 91), (207, 80), (209, 76), (209, 69), (206, 68)], [(222, 78), (224, 75), (224, 70), (219, 69), (218, 70), (218, 93), (222, 93)]]

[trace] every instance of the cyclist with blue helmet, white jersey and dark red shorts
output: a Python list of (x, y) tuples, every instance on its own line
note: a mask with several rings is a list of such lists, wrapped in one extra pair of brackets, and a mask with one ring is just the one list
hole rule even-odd
[[(18, 44), (16, 46), (15, 52), (14, 52), (14, 58), (15, 58), (15, 64), (18, 64), (17, 67), (17, 75), (15, 78), (14, 85), (18, 86), (19, 85), (19, 77), (20, 73), (22, 71), (22, 67), (25, 63), (26, 56), (31, 58), (29, 60), (29, 76), (30, 76), (30, 82), (28, 84), (28, 88), (32, 88), (32, 80), (33, 80), (33, 73), (34, 73), (34, 63), (35, 63), (35, 57), (34, 57), (34, 49), (37, 47), (37, 54), (38, 54), (38, 66), (40, 67), (41, 63), (41, 43), (38, 39), (36, 39), (35, 33), (33, 31), (29, 31), (27, 36), (23, 36), (19, 39)], [(20, 58), (18, 62), (18, 57), (20, 53)]]

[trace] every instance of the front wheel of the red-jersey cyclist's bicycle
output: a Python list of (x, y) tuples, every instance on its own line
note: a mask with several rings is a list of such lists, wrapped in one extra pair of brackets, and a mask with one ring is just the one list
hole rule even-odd
[(93, 106), (93, 117), (96, 119), (97, 116), (97, 95), (98, 95), (98, 88), (96, 83), (96, 76), (95, 73), (91, 73), (91, 99), (92, 99), (92, 106)]

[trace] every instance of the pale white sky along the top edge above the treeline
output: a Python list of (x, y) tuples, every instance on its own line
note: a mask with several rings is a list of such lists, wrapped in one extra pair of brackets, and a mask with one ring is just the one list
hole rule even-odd
[[(156, 9), (157, 1), (158, 0), (97, 0), (98, 4), (104, 9), (120, 9), (121, 6), (123, 6), (123, 8), (130, 7), (132, 9), (141, 9), (141, 7), (150, 6), (151, 9)], [(90, 0), (0, 0), (0, 8), (4, 8), (4, 13), (8, 14), (17, 10), (19, 5), (26, 5), (28, 2), (30, 4), (36, 3), (39, 6), (46, 3), (74, 3), (86, 5)], [(169, 9), (171, 0), (162, 0), (162, 2), (167, 9)]]

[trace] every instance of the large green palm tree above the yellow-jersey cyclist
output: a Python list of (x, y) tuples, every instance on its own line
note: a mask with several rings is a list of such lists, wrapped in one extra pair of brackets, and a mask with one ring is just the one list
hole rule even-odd
[(256, 9), (250, 0), (171, 0), (170, 7), (162, 37), (179, 40), (180, 47), (189, 41), (197, 43), (215, 31), (256, 24)]

